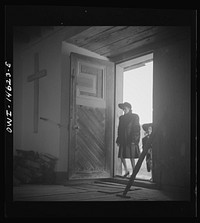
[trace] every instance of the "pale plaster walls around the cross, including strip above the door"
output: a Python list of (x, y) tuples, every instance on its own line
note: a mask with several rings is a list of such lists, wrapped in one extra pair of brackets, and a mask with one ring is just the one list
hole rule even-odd
[[(70, 53), (108, 60), (65, 42), (84, 28), (64, 27), (15, 52), (14, 150), (34, 150), (54, 155), (58, 158), (57, 171), (60, 172), (67, 172), (68, 169)], [(39, 69), (47, 70), (47, 76), (39, 80), (39, 117), (48, 121), (39, 119), (38, 133), (33, 132), (34, 84), (27, 82), (27, 77), (34, 73), (36, 52), (39, 53)]]

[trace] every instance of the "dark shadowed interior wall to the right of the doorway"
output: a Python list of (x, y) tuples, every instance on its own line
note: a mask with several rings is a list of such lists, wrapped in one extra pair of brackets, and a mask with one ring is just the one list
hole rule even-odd
[[(190, 38), (154, 51), (153, 145), (155, 180), (161, 187), (190, 188)], [(160, 123), (160, 124), (159, 124)]]

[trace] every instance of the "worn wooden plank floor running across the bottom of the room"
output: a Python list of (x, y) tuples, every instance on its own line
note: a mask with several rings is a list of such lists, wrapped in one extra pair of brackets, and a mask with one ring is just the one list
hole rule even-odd
[[(128, 180), (126, 180), (128, 181)], [(137, 184), (136, 184), (137, 185)], [(177, 197), (160, 190), (132, 186), (127, 193), (129, 199), (117, 196), (122, 194), (126, 182), (120, 180), (70, 181), (65, 185), (20, 185), (13, 188), (14, 201), (171, 201)]]

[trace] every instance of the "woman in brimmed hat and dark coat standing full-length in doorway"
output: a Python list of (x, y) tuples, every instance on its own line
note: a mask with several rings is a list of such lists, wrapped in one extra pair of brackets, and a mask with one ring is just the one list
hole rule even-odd
[(132, 169), (135, 168), (135, 159), (139, 158), (140, 149), (140, 124), (139, 116), (132, 113), (132, 106), (128, 102), (118, 105), (124, 111), (124, 115), (119, 117), (118, 136), (116, 143), (119, 146), (118, 157), (121, 158), (125, 169), (124, 177), (130, 173), (127, 169), (126, 158), (131, 161)]

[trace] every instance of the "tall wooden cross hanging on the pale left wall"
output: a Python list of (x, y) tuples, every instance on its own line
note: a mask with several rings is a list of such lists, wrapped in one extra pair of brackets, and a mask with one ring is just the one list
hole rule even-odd
[(28, 76), (27, 81), (34, 81), (34, 111), (33, 111), (33, 132), (38, 132), (38, 120), (39, 120), (39, 79), (46, 76), (47, 71), (45, 69), (39, 70), (39, 54), (34, 55), (34, 74)]

